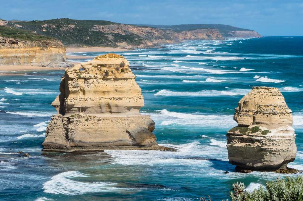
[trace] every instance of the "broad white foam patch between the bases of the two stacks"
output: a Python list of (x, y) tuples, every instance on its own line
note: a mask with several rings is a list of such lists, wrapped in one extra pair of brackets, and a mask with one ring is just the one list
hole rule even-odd
[[(200, 142), (194, 141), (181, 145), (159, 144), (161, 146), (172, 147), (177, 149), (176, 152), (147, 151), (147, 150), (105, 150), (112, 155), (115, 162), (121, 165), (158, 165), (166, 166), (204, 166), (209, 168), (212, 165), (208, 160), (197, 160), (191, 157), (211, 157), (216, 154), (223, 159), (227, 157), (227, 152), (221, 147), (201, 146)], [(211, 151), (210, 151), (211, 150)], [(226, 160), (226, 159), (225, 159)]]

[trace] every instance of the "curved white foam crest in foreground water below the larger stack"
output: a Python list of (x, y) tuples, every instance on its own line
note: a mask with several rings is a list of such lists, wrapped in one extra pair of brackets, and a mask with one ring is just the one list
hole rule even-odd
[(79, 182), (73, 180), (77, 177), (89, 177), (87, 174), (79, 171), (69, 171), (59, 173), (51, 178), (51, 180), (43, 184), (45, 193), (64, 194), (64, 195), (78, 195), (85, 193), (97, 192), (114, 192), (118, 188), (114, 187), (116, 183), (106, 182)]

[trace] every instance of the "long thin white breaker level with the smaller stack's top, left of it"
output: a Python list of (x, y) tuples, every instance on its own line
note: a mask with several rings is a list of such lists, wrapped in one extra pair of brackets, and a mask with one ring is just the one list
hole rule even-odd
[(225, 95), (245, 95), (249, 92), (249, 89), (231, 89), (229, 91), (218, 91), (218, 90), (201, 90), (198, 92), (176, 92), (170, 90), (160, 90), (154, 95), (161, 96), (225, 96)]

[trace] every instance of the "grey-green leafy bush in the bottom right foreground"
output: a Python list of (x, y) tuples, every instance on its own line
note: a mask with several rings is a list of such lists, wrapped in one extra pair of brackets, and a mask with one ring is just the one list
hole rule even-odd
[[(265, 187), (259, 187), (251, 193), (244, 191), (244, 183), (232, 184), (231, 201), (303, 201), (303, 176), (277, 178), (266, 182)], [(200, 198), (201, 201), (207, 201)], [(211, 198), (209, 198), (211, 201)], [(228, 201), (228, 199), (226, 200)]]

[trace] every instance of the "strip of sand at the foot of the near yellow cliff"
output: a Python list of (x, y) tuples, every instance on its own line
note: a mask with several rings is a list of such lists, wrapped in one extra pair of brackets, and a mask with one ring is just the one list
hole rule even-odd
[[(32, 65), (0, 65), (0, 76), (1, 75), (24, 75), (21, 71), (29, 70), (63, 70), (64, 68), (52, 68), (43, 66), (32, 66)], [(18, 73), (14, 73), (18, 71)]]

